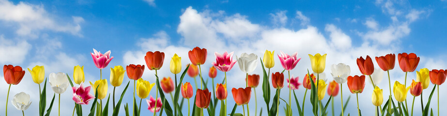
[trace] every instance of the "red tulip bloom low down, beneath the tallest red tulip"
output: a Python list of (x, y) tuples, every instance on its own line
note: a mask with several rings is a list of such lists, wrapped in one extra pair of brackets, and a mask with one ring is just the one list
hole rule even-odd
[(200, 108), (208, 108), (211, 101), (211, 92), (208, 91), (208, 88), (205, 90), (197, 89), (196, 91), (196, 105)]

